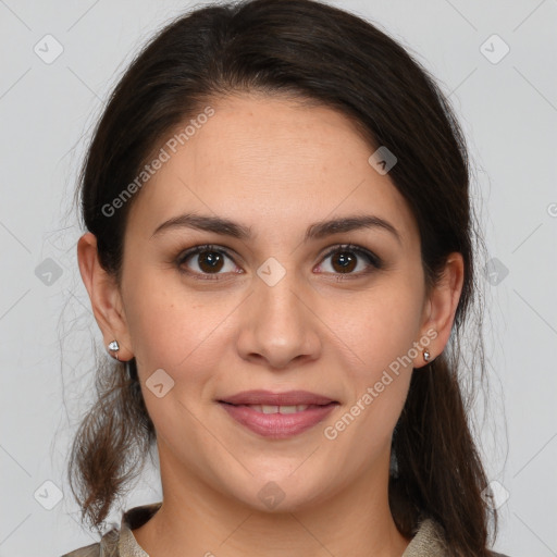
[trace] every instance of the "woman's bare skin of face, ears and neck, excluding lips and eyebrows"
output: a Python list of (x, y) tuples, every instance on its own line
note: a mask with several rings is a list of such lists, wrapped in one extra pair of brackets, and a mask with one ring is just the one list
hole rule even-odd
[[(151, 557), (400, 556), (409, 540), (388, 508), (391, 438), (422, 351), (335, 440), (323, 430), (428, 331), (432, 358), (444, 349), (462, 258), (451, 253), (426, 292), (410, 208), (344, 115), (281, 97), (213, 100), (215, 114), (136, 194), (120, 286), (100, 267), (95, 236), (78, 243), (104, 344), (116, 338), (120, 359), (136, 358), (157, 430), (163, 505), (134, 535)], [(187, 227), (152, 236), (185, 212), (232, 219), (253, 237)], [(304, 242), (318, 221), (362, 213), (388, 221), (399, 240), (374, 227)], [(338, 255), (324, 256), (348, 243), (383, 267), (350, 252), (357, 264), (343, 274)], [(190, 275), (180, 272), (178, 256), (203, 244), (231, 252), (216, 280), (195, 278), (210, 275), (199, 256), (182, 263)], [(270, 257), (286, 273), (274, 286), (257, 274)], [(146, 386), (158, 369), (174, 381), (160, 398)], [(270, 440), (215, 401), (251, 388), (341, 404), (317, 426)], [(258, 497), (271, 481), (285, 494), (273, 509)]]

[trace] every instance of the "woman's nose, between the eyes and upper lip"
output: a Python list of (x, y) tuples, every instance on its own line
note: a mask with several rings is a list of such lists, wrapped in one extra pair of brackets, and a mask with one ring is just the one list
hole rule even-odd
[(259, 277), (242, 313), (237, 349), (245, 360), (272, 369), (318, 359), (322, 342), (319, 317), (311, 308), (310, 288), (294, 272), (270, 286)]

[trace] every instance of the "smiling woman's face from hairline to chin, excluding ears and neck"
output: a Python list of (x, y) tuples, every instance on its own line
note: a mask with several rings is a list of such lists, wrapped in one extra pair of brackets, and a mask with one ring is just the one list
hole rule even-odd
[[(211, 106), (166, 148), (125, 235), (124, 342), (161, 472), (259, 509), (273, 490), (284, 510), (383, 485), (412, 367), (434, 344), (412, 213), (342, 114), (278, 97)], [(333, 404), (284, 398), (281, 418), (223, 401), (252, 389)]]

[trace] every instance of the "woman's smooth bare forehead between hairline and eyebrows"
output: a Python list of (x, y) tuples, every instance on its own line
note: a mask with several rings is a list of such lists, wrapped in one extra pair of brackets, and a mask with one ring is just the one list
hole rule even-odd
[(364, 212), (395, 223), (403, 238), (416, 235), (405, 199), (368, 161), (374, 147), (344, 114), (276, 96), (208, 104), (210, 117), (184, 122), (174, 136), (182, 141), (164, 144), (168, 160), (143, 187), (129, 226), (139, 222), (152, 232), (163, 220), (198, 211), (256, 232), (286, 233), (297, 223), (305, 232), (308, 222)]

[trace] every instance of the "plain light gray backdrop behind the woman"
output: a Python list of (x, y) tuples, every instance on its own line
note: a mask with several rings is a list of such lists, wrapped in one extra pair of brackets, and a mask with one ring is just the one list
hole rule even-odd
[[(108, 92), (152, 33), (190, 5), (0, 0), (0, 556), (61, 555), (97, 541), (79, 527), (64, 478), (89, 403), (91, 339), (101, 339), (77, 271), (71, 199)], [(485, 280), (488, 412), (478, 405), (498, 482), (495, 547), (557, 555), (557, 1), (336, 5), (409, 48), (463, 125), (490, 259), (499, 261)], [(57, 42), (63, 52), (50, 61)], [(159, 494), (149, 468), (120, 505)], [(109, 522), (120, 524), (117, 509)]]

